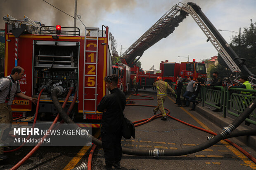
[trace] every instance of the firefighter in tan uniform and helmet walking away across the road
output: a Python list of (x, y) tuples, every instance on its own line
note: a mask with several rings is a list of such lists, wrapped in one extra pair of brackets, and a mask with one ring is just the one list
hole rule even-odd
[(157, 89), (157, 106), (156, 106), (156, 108), (153, 109), (153, 112), (154, 112), (154, 114), (156, 114), (156, 112), (158, 110), (160, 110), (160, 112), (163, 116), (161, 120), (166, 121), (167, 118), (166, 118), (166, 113), (164, 110), (164, 100), (167, 95), (167, 88), (173, 94), (175, 94), (175, 91), (171, 88), (171, 86), (167, 82), (164, 82), (162, 80), (162, 77), (157, 77), (156, 82), (154, 82), (153, 86), (156, 86), (156, 89)]

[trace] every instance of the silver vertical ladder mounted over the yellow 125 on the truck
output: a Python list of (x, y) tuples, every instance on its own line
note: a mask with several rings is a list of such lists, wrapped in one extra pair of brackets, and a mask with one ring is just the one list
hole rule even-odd
[[(97, 38), (87, 38), (86, 37), (86, 33), (91, 33), (91, 32), (97, 32)], [(94, 40), (96, 41), (96, 50), (87, 50), (87, 43), (86, 40)], [(97, 113), (97, 73), (98, 73), (98, 44), (99, 44), (99, 28), (95, 28), (95, 27), (85, 27), (85, 45), (84, 45), (84, 66), (83, 66), (83, 114), (85, 114), (86, 112), (92, 112), (92, 113)], [(96, 53), (96, 62), (88, 62), (86, 61), (86, 54), (87, 53)], [(95, 65), (95, 75), (88, 75), (85, 73), (85, 65), (86, 64), (90, 64), (90, 65)], [(86, 77), (95, 77), (95, 86), (85, 86), (85, 78)], [(88, 89), (90, 91), (93, 91), (93, 89), (95, 90), (95, 98), (87, 98), (86, 95), (88, 95), (87, 93), (85, 93), (85, 90)], [(95, 101), (95, 110), (85, 110), (85, 101)]]

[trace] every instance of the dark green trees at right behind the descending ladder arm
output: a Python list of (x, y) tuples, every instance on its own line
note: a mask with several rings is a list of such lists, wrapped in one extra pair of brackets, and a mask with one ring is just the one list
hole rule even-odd
[[(244, 28), (243, 33), (233, 36), (231, 39), (230, 47), (236, 52), (240, 58), (245, 58), (245, 64), (247, 68), (254, 74), (256, 74), (256, 23), (252, 23), (250, 27)], [(228, 68), (228, 65), (223, 61), (220, 54), (218, 54), (218, 65), (209, 69), (210, 74), (214, 71), (220, 73), (219, 77), (233, 77), (235, 73), (232, 73)]]

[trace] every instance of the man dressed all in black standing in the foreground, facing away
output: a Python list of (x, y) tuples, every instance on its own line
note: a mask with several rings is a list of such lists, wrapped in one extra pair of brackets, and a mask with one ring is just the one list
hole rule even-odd
[[(114, 165), (115, 168), (121, 169), (120, 161), (122, 159), (122, 112), (126, 105), (126, 96), (117, 88), (118, 77), (114, 74), (104, 78), (107, 89), (111, 94), (105, 95), (98, 107), (102, 115), (101, 138), (102, 147), (104, 150), (104, 158), (106, 169), (111, 170)], [(120, 100), (121, 109), (119, 106)]]

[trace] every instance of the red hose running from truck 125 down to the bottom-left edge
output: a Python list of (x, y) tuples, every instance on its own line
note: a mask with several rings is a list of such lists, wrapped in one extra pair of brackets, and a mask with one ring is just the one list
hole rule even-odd
[[(53, 90), (54, 91), (54, 90)], [(67, 103), (67, 100), (68, 100), (68, 98), (69, 98), (69, 96), (70, 96), (70, 94), (71, 94), (71, 92), (73, 91), (73, 87), (71, 87), (70, 89), (69, 89), (69, 92), (68, 92), (68, 94), (67, 94), (67, 96), (66, 96), (66, 99), (65, 99), (65, 101), (64, 101), (64, 103), (62, 104), (62, 109), (66, 106), (66, 103)], [(56, 94), (57, 95), (57, 94)], [(73, 98), (73, 100), (72, 100), (72, 102), (71, 102), (71, 105), (69, 106), (69, 110), (68, 110), (68, 112), (70, 112), (71, 110), (72, 110), (72, 108), (73, 108), (73, 106), (74, 106), (74, 104), (75, 104), (75, 102), (76, 102), (76, 98), (77, 98), (77, 91), (76, 91), (76, 93), (75, 93), (75, 95), (74, 95), (74, 98)], [(59, 102), (59, 101), (58, 101)], [(39, 105), (39, 104), (38, 104)], [(54, 126), (54, 124), (58, 121), (58, 119), (59, 119), (59, 114), (56, 116), (56, 118), (54, 119), (54, 121), (52, 122), (52, 125), (50, 126), (50, 128), (49, 128), (49, 130), (51, 130), (52, 128), (53, 128), (53, 126)], [(42, 141), (45, 139), (45, 138), (47, 138), (47, 136), (48, 135), (44, 135), (43, 137), (42, 137)], [(35, 152), (36, 152), (36, 150), (40, 147), (40, 145), (41, 145), (42, 143), (41, 142), (39, 142), (24, 158), (22, 158), (21, 159), (21, 161), (19, 161), (16, 165), (14, 165), (12, 168), (11, 168), (11, 170), (16, 170), (17, 168), (19, 168), (26, 160), (28, 160), (28, 158), (30, 158)]]

